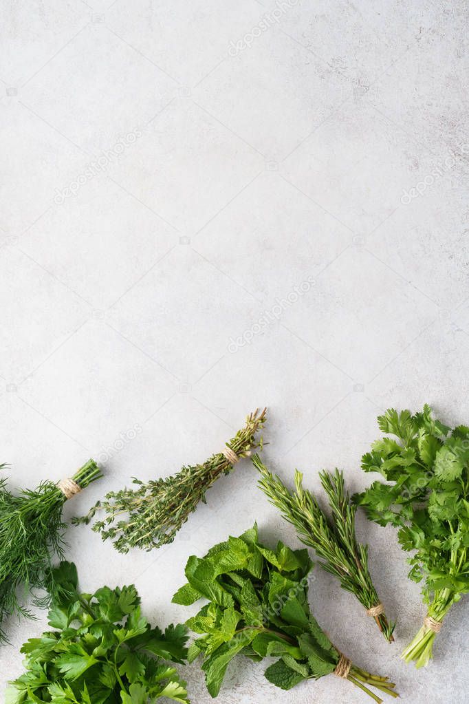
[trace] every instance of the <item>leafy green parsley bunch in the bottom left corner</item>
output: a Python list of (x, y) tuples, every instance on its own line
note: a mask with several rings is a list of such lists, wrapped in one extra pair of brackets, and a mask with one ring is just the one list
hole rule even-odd
[(53, 582), (49, 625), (58, 630), (23, 645), (25, 673), (10, 683), (7, 704), (188, 703), (186, 683), (167, 662), (186, 660), (185, 626), (151, 628), (134, 586), (79, 593), (70, 562), (53, 570)]

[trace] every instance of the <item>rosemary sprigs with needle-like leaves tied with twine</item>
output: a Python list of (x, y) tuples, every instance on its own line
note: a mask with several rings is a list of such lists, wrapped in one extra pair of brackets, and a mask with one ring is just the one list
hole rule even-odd
[(337, 469), (335, 474), (319, 472), (329, 499), (331, 515), (328, 517), (316, 497), (303, 488), (301, 472), (295, 470), (293, 492), (269, 472), (259, 455), (255, 455), (252, 462), (261, 474), (259, 486), (270, 503), (280, 509), (283, 518), (295, 527), (302, 543), (314, 548), (316, 555), (322, 558), (323, 562), (319, 564), (323, 570), (337, 577), (342, 589), (356, 596), (368, 615), (374, 617), (385, 639), (393, 641), (394, 623), (388, 622), (385, 616), (368, 570), (368, 546), (356, 540), (356, 506), (345, 492), (342, 472)]

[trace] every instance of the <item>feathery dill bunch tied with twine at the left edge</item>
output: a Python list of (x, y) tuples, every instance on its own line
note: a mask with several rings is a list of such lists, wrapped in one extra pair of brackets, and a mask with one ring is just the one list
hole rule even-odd
[[(62, 520), (63, 504), (100, 477), (98, 466), (89, 460), (72, 479), (59, 484), (42, 482), (34, 491), (24, 489), (16, 495), (9, 491), (6, 479), (0, 479), (0, 640), (6, 640), (3, 625), (7, 617), (14, 613), (32, 616), (23, 605), (26, 593), (44, 589), (51, 561), (63, 557), (67, 527)], [(35, 597), (34, 601), (46, 606), (48, 598)]]

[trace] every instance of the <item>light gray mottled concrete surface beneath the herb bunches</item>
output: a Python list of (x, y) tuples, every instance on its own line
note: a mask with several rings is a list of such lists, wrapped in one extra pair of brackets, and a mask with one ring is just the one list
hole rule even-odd
[[(352, 490), (387, 406), (468, 413), (467, 5), (441, 0), (2, 0), (1, 460), (13, 486), (89, 456), (106, 478), (221, 448), (269, 406), (282, 477), (338, 465)], [(167, 550), (70, 529), (83, 589), (135, 582), (165, 624), (188, 555), (257, 519), (297, 544), (243, 463)], [(316, 617), (404, 700), (467, 700), (460, 603), (426, 671), (424, 615), (392, 529), (359, 520), (397, 642), (321, 570)], [(11, 624), (0, 690), (46, 621)], [(193, 701), (205, 704), (197, 667)], [(238, 660), (222, 704), (358, 703), (334, 677), (281, 694)]]

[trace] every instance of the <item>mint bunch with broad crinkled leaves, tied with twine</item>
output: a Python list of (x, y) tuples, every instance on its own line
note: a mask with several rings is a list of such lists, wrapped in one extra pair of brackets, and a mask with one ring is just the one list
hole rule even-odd
[(392, 682), (353, 665), (319, 627), (308, 605), (311, 567), (306, 549), (290, 550), (279, 542), (272, 551), (261, 545), (257, 525), (214, 546), (205, 558), (188, 559), (188, 584), (173, 601), (184, 605), (203, 597), (209, 601), (187, 625), (200, 635), (189, 648), (189, 660), (203, 655), (212, 697), (219, 693), (226, 667), (238, 653), (255, 661), (278, 658), (264, 674), (281, 689), (334, 673), (376, 702), (382, 700), (368, 686), (398, 696)]

